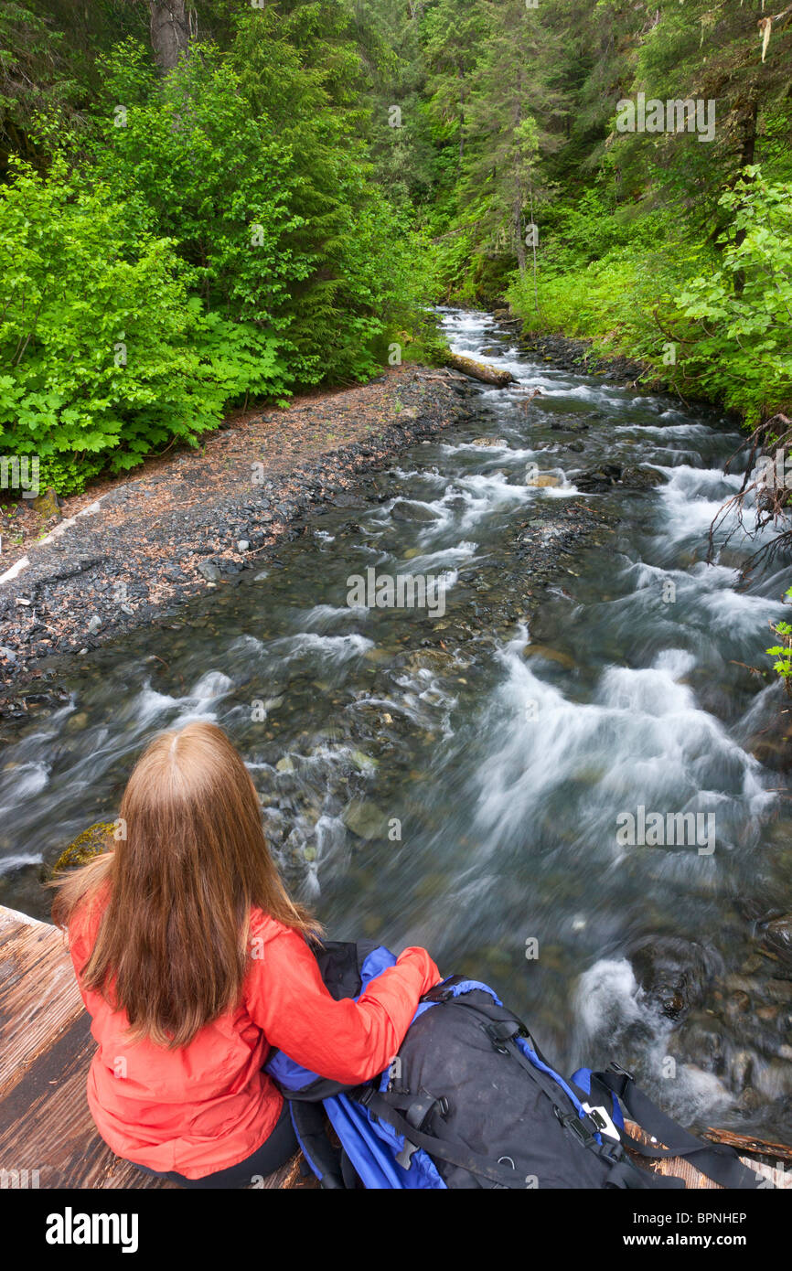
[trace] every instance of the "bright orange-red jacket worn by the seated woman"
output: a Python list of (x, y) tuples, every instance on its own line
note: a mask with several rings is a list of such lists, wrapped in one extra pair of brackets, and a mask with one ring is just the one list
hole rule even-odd
[(205, 1024), (188, 1046), (130, 1043), (126, 1013), (85, 990), (85, 966), (102, 905), (83, 906), (69, 927), (71, 960), (98, 1050), (88, 1074), (88, 1103), (99, 1134), (127, 1160), (203, 1178), (252, 1155), (270, 1136), (282, 1097), (262, 1071), (271, 1046), (332, 1080), (367, 1080), (388, 1066), (418, 998), (440, 980), (426, 949), (408, 948), (357, 1002), (336, 1002), (303, 937), (250, 914), (257, 957), (242, 1000)]

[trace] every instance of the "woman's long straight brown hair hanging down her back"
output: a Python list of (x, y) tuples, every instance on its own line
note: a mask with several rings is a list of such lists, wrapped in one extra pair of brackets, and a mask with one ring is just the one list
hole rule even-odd
[(290, 900), (256, 787), (215, 724), (160, 733), (119, 812), (126, 838), (56, 881), (52, 918), (67, 928), (78, 906), (107, 895), (85, 986), (126, 1010), (132, 1040), (186, 1046), (239, 1002), (252, 905), (309, 939), (322, 929)]

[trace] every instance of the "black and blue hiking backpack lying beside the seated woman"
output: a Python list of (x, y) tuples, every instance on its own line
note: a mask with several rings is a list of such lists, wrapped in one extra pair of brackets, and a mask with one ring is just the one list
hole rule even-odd
[[(395, 965), (364, 941), (325, 942), (317, 961), (336, 999), (358, 998)], [(278, 1050), (264, 1066), (328, 1188), (684, 1188), (625, 1148), (685, 1157), (725, 1187), (760, 1183), (734, 1149), (702, 1143), (655, 1107), (618, 1064), (564, 1080), (495, 990), (459, 975), (425, 994), (398, 1055), (370, 1082), (342, 1085)], [(623, 1107), (664, 1148), (631, 1138)]]

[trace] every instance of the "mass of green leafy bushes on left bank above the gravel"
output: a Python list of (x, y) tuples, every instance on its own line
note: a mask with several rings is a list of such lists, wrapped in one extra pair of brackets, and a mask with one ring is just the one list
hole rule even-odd
[(60, 492), (426, 337), (428, 244), (350, 135), (347, 19), (317, 3), (212, 20), (228, 47), (165, 78), (112, 44), (79, 130), (37, 125), (52, 146), (58, 121), (47, 175), (15, 164), (0, 187), (1, 440)]

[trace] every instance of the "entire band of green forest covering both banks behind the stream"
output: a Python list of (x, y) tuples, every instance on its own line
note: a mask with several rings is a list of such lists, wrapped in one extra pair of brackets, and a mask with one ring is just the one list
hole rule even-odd
[(792, 402), (792, 5), (24, 0), (0, 437), (41, 480), (442, 350), (507, 300), (755, 427)]

